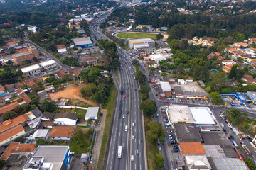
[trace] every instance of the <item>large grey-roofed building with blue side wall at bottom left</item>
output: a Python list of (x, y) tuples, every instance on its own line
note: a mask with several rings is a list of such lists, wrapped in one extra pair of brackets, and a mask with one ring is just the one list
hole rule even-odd
[(64, 170), (71, 166), (72, 153), (69, 146), (38, 146), (29, 157), (23, 170), (51, 169)]

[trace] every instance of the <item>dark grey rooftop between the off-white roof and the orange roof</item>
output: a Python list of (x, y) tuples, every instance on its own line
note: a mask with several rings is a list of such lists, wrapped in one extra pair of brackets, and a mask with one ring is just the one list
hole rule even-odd
[(194, 123), (174, 123), (179, 142), (202, 142), (202, 138)]

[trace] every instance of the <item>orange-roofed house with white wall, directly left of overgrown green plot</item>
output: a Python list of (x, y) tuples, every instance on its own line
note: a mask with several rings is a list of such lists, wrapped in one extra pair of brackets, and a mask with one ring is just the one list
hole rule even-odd
[(54, 126), (49, 137), (52, 140), (71, 140), (74, 129), (73, 126)]

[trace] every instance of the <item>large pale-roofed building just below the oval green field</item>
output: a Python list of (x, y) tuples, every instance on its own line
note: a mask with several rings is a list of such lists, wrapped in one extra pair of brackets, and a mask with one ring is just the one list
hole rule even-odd
[(151, 38), (139, 38), (139, 39), (132, 39), (129, 40), (129, 48), (134, 48), (139, 47), (138, 45), (142, 45), (142, 47), (149, 47), (149, 48), (154, 48), (155, 47), (155, 42)]

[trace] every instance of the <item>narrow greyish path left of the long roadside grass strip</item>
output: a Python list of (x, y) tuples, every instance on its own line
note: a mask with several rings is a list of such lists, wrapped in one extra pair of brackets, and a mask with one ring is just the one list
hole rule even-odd
[(107, 110), (102, 109), (101, 112), (103, 113), (103, 116), (100, 120), (100, 125), (97, 125), (95, 128), (97, 135), (96, 135), (96, 139), (95, 139), (95, 145), (94, 145), (93, 151), (92, 151), (92, 157), (94, 157), (93, 163), (92, 163), (92, 170), (97, 169), (97, 162), (98, 162), (98, 159), (100, 156), (100, 147), (101, 147), (101, 143), (102, 143), (103, 130), (104, 130), (105, 120), (106, 120), (106, 115), (107, 115)]

